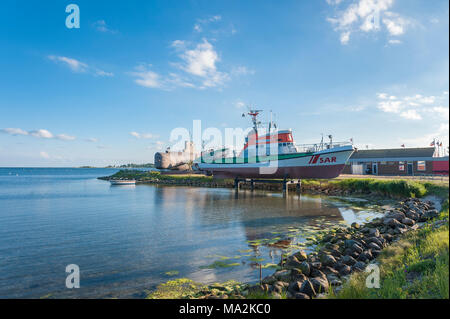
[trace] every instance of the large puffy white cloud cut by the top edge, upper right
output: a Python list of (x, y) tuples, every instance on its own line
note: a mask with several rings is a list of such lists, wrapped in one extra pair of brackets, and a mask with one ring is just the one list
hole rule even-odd
[[(327, 0), (332, 6), (337, 6), (341, 1)], [(394, 36), (405, 33), (410, 20), (395, 12), (388, 11), (394, 0), (353, 0), (344, 10), (338, 10), (335, 17), (327, 18), (334, 26), (334, 30), (340, 33), (342, 44), (348, 44), (350, 36), (355, 32), (378, 32), (385, 30)]]

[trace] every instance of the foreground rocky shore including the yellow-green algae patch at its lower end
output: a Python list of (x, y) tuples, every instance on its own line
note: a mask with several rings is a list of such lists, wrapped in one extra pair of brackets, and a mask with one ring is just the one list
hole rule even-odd
[[(176, 299), (312, 299), (335, 297), (378, 257), (406, 235), (421, 231), (432, 222), (439, 229), (447, 225), (437, 219), (444, 198), (399, 201), (385, 216), (364, 224), (335, 227), (319, 235), (316, 250), (299, 250), (285, 256), (277, 270), (260, 284), (233, 280), (203, 285), (188, 278), (178, 278), (158, 286), (147, 298)], [(411, 218), (410, 218), (411, 217)], [(372, 266), (371, 266), (372, 267)], [(172, 295), (176, 291), (175, 295)]]

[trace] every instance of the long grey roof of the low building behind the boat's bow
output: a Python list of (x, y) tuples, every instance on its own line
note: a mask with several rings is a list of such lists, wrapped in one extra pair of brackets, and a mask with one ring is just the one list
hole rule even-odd
[(412, 160), (426, 159), (434, 155), (434, 147), (391, 148), (379, 150), (358, 150), (350, 157), (351, 161), (362, 160)]

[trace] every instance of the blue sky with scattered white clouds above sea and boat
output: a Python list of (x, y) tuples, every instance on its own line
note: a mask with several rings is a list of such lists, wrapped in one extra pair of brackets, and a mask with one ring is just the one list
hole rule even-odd
[(248, 104), (297, 143), (448, 146), (448, 6), (3, 1), (0, 166), (153, 162), (193, 120), (247, 127)]

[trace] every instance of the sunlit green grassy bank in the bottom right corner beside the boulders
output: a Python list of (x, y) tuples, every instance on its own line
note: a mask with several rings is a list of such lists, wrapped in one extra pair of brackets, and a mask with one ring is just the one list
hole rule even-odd
[[(448, 194), (447, 194), (448, 195)], [(380, 288), (366, 287), (367, 273), (352, 275), (332, 298), (449, 298), (448, 199), (437, 220), (407, 234), (378, 257)]]

